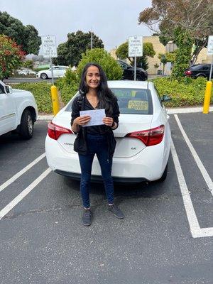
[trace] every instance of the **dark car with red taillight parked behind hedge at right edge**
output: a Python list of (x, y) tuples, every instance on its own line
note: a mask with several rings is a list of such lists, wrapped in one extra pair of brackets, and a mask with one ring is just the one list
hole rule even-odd
[[(195, 78), (195, 79), (197, 77), (206, 77), (206, 78), (209, 79), (210, 67), (211, 67), (211, 64), (192, 65), (185, 70), (184, 74), (187, 77), (192, 77), (192, 78)], [(212, 78), (213, 78), (213, 72), (212, 72)]]

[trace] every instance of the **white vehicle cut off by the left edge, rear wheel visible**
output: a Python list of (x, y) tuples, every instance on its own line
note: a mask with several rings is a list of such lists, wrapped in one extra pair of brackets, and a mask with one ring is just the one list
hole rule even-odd
[(23, 138), (31, 138), (37, 116), (38, 108), (31, 92), (12, 89), (0, 81), (0, 135), (16, 131)]

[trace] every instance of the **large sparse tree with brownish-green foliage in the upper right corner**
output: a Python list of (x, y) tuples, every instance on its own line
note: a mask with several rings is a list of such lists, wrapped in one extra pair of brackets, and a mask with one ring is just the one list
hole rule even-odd
[[(144, 23), (160, 34), (160, 42), (166, 45), (174, 40), (178, 45), (177, 28), (192, 39), (195, 49), (192, 64), (202, 48), (207, 46), (208, 36), (213, 33), (212, 0), (153, 0), (151, 8), (141, 11), (138, 23)], [(180, 35), (180, 30), (179, 30)], [(189, 60), (190, 61), (190, 60)]]

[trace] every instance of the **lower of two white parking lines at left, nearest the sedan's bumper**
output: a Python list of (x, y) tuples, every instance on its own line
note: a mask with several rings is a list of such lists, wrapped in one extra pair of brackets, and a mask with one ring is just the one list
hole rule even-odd
[(23, 200), (24, 197), (26, 197), (26, 195), (28, 195), (28, 193), (31, 192), (31, 190), (33, 190), (33, 188), (38, 185), (39, 182), (41, 182), (49, 173), (51, 172), (51, 169), (48, 168), (47, 170), (45, 170), (41, 175), (39, 175), (38, 178), (36, 178), (36, 180), (34, 180), (31, 185), (29, 185), (28, 187), (26, 187), (25, 190), (23, 190), (19, 195), (17, 195), (9, 204), (6, 205), (6, 207), (4, 207), (1, 211), (0, 211), (0, 220), (8, 213), (11, 211), (11, 209), (13, 209), (13, 207), (16, 206), (16, 204), (18, 204), (18, 202), (20, 202), (21, 200)]

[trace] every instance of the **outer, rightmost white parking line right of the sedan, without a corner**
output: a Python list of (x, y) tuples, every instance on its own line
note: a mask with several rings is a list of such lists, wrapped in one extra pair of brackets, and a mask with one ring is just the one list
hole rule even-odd
[(182, 133), (183, 138), (185, 139), (185, 142), (187, 143), (187, 146), (190, 148), (190, 151), (192, 153), (193, 158), (195, 159), (195, 162), (197, 163), (197, 167), (200, 169), (200, 172), (202, 173), (202, 176), (207, 183), (207, 186), (209, 188), (209, 191), (213, 195), (213, 182), (212, 179), (209, 177), (209, 174), (207, 173), (206, 168), (204, 167), (202, 161), (200, 160), (199, 156), (197, 155), (197, 152), (195, 151), (195, 148), (192, 146), (192, 143), (190, 142), (190, 139), (188, 138), (187, 134), (185, 133), (182, 124), (180, 123), (180, 119), (178, 118), (178, 115), (175, 114), (175, 119), (177, 121), (177, 124), (179, 126), (179, 129)]

